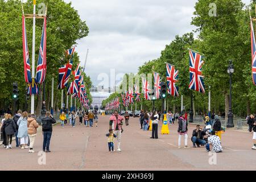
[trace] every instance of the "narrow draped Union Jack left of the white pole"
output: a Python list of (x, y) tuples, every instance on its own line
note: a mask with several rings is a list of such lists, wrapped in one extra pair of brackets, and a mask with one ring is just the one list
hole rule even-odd
[(28, 54), (27, 46), (27, 31), (25, 23), (25, 15), (22, 15), (22, 42), (23, 42), (23, 62), (24, 62), (24, 77), (27, 84), (32, 82), (31, 72), (30, 72), (30, 58)]

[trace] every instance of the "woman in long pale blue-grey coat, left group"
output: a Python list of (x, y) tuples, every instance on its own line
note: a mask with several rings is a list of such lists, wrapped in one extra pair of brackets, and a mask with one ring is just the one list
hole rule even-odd
[(20, 145), (22, 146), (22, 149), (28, 148), (27, 118), (28, 118), (28, 113), (27, 111), (24, 111), (22, 113), (22, 117), (20, 117), (17, 122), (19, 126), (17, 136), (18, 138), (20, 138)]

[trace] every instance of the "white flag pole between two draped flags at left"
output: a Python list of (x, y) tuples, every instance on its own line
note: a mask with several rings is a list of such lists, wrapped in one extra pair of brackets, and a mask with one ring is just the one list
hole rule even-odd
[[(35, 19), (36, 0), (33, 0), (33, 37), (32, 37), (32, 84), (35, 79)], [(35, 94), (31, 95), (31, 114), (35, 114)]]

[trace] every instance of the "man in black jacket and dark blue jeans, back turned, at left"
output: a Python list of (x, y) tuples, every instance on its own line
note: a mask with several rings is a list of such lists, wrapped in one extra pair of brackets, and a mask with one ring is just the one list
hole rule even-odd
[(55, 119), (52, 117), (51, 113), (46, 112), (46, 117), (42, 119), (42, 129), (44, 135), (43, 141), (43, 151), (51, 152), (49, 150), (49, 144), (52, 137), (52, 124), (56, 123)]

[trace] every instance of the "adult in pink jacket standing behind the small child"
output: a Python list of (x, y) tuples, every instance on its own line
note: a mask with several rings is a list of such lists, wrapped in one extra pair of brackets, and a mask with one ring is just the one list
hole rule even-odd
[(114, 134), (117, 135), (117, 151), (120, 152), (123, 117), (121, 117), (121, 115), (119, 115), (118, 111), (116, 110), (109, 120), (109, 129), (112, 129), (113, 125)]

